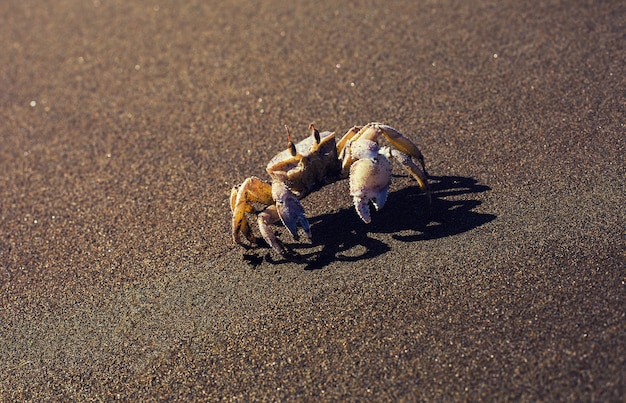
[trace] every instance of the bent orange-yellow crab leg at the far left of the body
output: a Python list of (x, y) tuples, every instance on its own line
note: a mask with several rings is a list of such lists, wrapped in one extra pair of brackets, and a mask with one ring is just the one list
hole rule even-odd
[(255, 211), (251, 204), (255, 202), (265, 205), (274, 204), (272, 186), (255, 176), (243, 181), (239, 187), (235, 186), (230, 192), (230, 209), (233, 212), (232, 235), (233, 240), (238, 244), (242, 243), (241, 234), (250, 243), (254, 243), (254, 236), (246, 219), (246, 213)]

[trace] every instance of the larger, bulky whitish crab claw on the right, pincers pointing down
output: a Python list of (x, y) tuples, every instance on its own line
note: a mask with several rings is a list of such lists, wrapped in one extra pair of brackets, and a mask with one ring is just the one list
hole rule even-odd
[(359, 217), (369, 224), (371, 201), (380, 210), (387, 201), (387, 191), (391, 184), (391, 163), (382, 154), (359, 159), (350, 167), (350, 196), (354, 201)]

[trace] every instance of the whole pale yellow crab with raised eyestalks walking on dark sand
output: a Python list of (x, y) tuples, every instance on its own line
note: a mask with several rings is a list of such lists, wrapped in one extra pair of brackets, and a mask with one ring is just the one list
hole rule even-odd
[[(263, 239), (278, 254), (290, 256), (291, 252), (270, 226), (282, 222), (296, 241), (300, 227), (311, 239), (311, 228), (300, 200), (326, 184), (348, 177), (356, 212), (363, 222), (370, 223), (370, 203), (380, 210), (387, 200), (391, 158), (417, 180), (430, 202), (424, 157), (413, 141), (393, 127), (375, 122), (354, 126), (338, 142), (334, 132), (320, 133), (314, 124), (309, 130), (309, 137), (294, 143), (287, 129), (287, 149), (267, 164), (270, 182), (251, 176), (233, 187), (230, 207), (235, 243), (244, 245), (245, 237), (250, 244), (257, 244), (249, 221), (249, 216), (256, 215)], [(381, 145), (383, 138), (390, 146)]]

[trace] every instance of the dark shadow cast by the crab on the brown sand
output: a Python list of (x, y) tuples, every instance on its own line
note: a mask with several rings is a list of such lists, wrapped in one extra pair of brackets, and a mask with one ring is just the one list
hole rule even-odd
[[(353, 207), (311, 217), (313, 242), (289, 245), (294, 250), (301, 250), (296, 261), (306, 264), (307, 270), (315, 270), (336, 261), (370, 259), (391, 250), (387, 243), (370, 234), (392, 234), (393, 239), (401, 242), (433, 240), (470, 231), (496, 218), (493, 214), (473, 211), (481, 201), (459, 197), (491, 190), (475, 179), (431, 176), (429, 183), (430, 206), (418, 186), (400, 189), (389, 194), (381, 211), (372, 209), (370, 224), (363, 223)], [(309, 252), (311, 249), (315, 251)], [(271, 254), (265, 259), (275, 264), (288, 261), (274, 260)], [(248, 256), (247, 260), (257, 265), (263, 259)]]

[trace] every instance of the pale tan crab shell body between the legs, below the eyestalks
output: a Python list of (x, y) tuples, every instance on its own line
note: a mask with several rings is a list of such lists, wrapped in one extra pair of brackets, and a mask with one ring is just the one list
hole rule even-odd
[(314, 136), (309, 136), (295, 144), (295, 149), (296, 155), (289, 149), (276, 154), (266, 170), (273, 182), (284, 183), (298, 198), (323, 185), (327, 179), (332, 181), (339, 177), (341, 165), (335, 133), (320, 133), (319, 144)]

